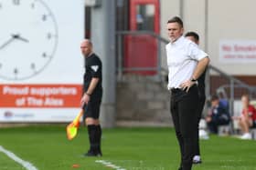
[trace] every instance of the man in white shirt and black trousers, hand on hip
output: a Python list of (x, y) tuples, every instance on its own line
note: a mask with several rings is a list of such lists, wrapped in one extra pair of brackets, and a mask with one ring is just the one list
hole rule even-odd
[(205, 71), (209, 59), (195, 43), (183, 36), (183, 22), (179, 17), (168, 20), (167, 33), (170, 38), (170, 43), (165, 46), (168, 89), (171, 91), (171, 114), (181, 153), (178, 169), (191, 170), (199, 102), (197, 78)]

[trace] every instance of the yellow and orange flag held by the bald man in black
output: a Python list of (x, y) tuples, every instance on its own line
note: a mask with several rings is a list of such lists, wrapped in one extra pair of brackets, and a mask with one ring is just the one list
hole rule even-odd
[(66, 127), (67, 137), (69, 140), (72, 140), (78, 133), (80, 126), (80, 117), (83, 115), (83, 109), (80, 109), (79, 115)]

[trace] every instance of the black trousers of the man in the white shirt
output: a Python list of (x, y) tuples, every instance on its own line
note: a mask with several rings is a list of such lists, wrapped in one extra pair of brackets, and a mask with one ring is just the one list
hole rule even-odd
[(195, 131), (197, 131), (198, 100), (197, 85), (190, 87), (188, 92), (180, 89), (172, 90), (171, 115), (180, 146), (182, 170), (191, 170), (192, 168), (196, 141)]

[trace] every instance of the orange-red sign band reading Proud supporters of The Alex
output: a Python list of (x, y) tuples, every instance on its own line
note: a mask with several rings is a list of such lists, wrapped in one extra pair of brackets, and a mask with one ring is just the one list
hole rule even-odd
[(81, 85), (0, 85), (0, 107), (79, 107)]

